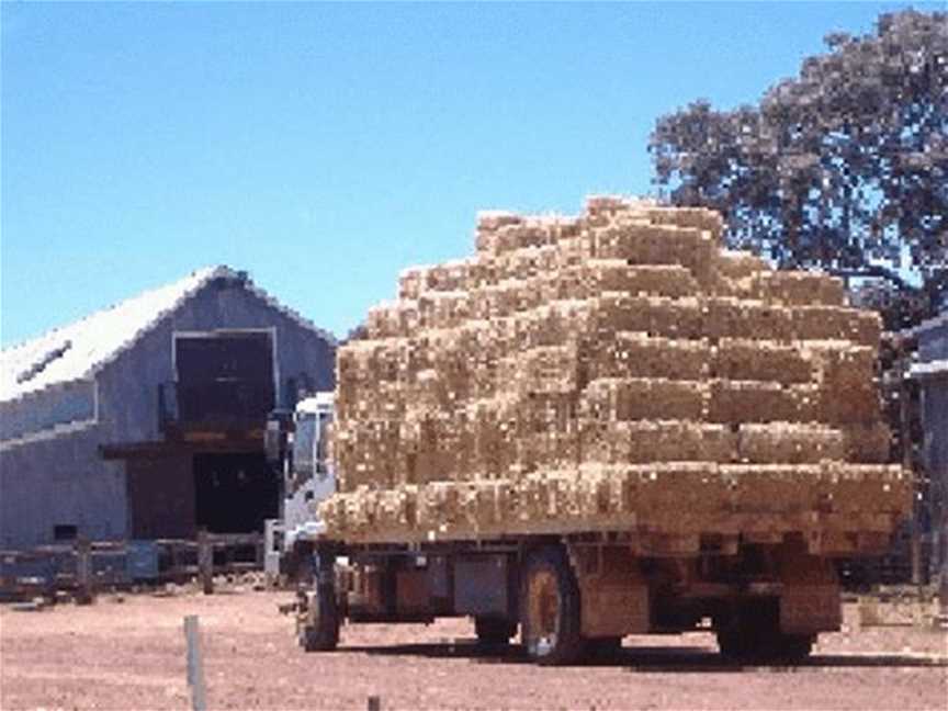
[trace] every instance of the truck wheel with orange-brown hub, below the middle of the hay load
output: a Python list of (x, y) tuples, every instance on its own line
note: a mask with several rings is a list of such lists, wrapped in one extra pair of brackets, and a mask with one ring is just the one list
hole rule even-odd
[(530, 554), (520, 584), (520, 634), (540, 664), (569, 664), (585, 651), (579, 634), (579, 588), (563, 551)]

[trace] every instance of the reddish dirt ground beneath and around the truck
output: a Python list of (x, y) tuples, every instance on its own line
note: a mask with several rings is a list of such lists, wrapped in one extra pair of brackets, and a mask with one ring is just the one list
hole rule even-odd
[(727, 667), (706, 633), (627, 637), (609, 662), (542, 668), (487, 654), (473, 625), (349, 625), (305, 654), (287, 592), (100, 596), (89, 607), (0, 606), (0, 708), (188, 709), (182, 620), (200, 616), (211, 709), (946, 709), (945, 631), (860, 628), (820, 637), (798, 667)]

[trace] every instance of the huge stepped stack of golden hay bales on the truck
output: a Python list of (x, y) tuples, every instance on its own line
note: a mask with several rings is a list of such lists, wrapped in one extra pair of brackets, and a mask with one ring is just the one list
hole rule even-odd
[(403, 272), (338, 351), (330, 535), (701, 532), (777, 494), (799, 528), (821, 481), (893, 490), (878, 317), (722, 227), (617, 198), (482, 213), (474, 257)]

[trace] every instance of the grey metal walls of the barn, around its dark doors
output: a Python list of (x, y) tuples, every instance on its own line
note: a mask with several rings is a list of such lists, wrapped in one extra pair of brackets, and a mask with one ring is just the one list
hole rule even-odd
[[(300, 373), (319, 390), (332, 387), (335, 352), (318, 334), (241, 287), (222, 291), (207, 285), (98, 374), (98, 424), (0, 451), (0, 548), (52, 542), (57, 523), (75, 524), (80, 534), (95, 540), (132, 535), (126, 465), (102, 460), (99, 445), (161, 438), (158, 387), (173, 380), (173, 332), (270, 327), (275, 327), (280, 405), (287, 404), (286, 379)], [(21, 419), (29, 418), (24, 414)], [(193, 511), (187, 509), (193, 506), (193, 495), (187, 490), (181, 466), (154, 465), (148, 476), (159, 482), (137, 479), (132, 483), (133, 495), (165, 492), (178, 504), (156, 499), (157, 516), (171, 529), (190, 531)], [(189, 501), (180, 500), (189, 496)], [(158, 526), (154, 520), (147, 523), (149, 530)]]

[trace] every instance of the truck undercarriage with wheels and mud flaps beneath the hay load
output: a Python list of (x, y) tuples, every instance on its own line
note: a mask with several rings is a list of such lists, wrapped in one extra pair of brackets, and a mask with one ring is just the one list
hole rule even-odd
[[(840, 624), (832, 560), (800, 534), (702, 538), (697, 555), (643, 552), (632, 533), (471, 542), (304, 543), (312, 576), (297, 595), (307, 651), (334, 650), (343, 621), (471, 617), (479, 643), (517, 634), (541, 664), (617, 650), (627, 634), (712, 630), (737, 663), (799, 662)], [(343, 562), (345, 561), (345, 562)]]

